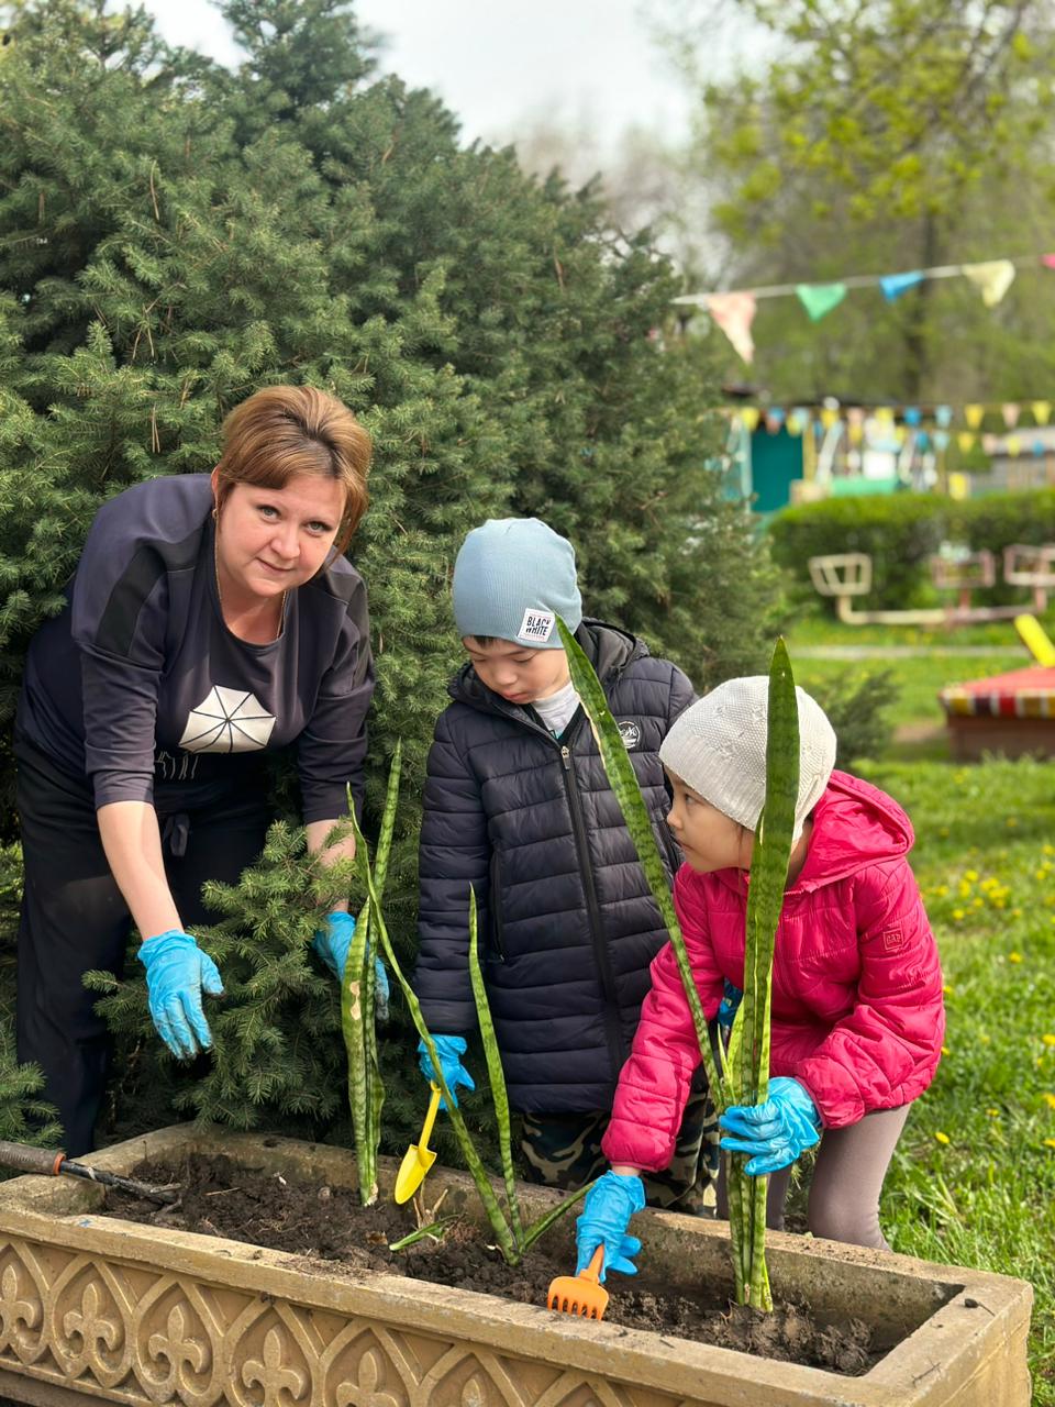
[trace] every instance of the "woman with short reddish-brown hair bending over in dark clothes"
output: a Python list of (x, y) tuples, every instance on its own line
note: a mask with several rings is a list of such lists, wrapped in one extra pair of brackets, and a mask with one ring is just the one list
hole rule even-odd
[[(342, 556), (367, 507), (370, 438), (311, 387), (228, 415), (212, 474), (138, 484), (89, 532), (68, 605), (34, 637), (15, 727), (25, 896), (18, 1058), (37, 1061), (69, 1157), (93, 1147), (108, 1062), (83, 988), (120, 972), (129, 920), (158, 1033), (211, 1044), (221, 979), (188, 927), (271, 819), (263, 754), (295, 744), (308, 848), (362, 791), (373, 692), (366, 590)], [(333, 854), (350, 853), (352, 846)], [(316, 948), (336, 972), (352, 920)]]

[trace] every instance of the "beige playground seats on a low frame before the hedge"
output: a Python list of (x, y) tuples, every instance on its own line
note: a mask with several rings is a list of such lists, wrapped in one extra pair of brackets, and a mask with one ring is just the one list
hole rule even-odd
[[(855, 597), (872, 590), (872, 559), (867, 552), (838, 552), (809, 559), (810, 581), (821, 597), (836, 598), (836, 612), (844, 625), (978, 625), (1011, 620), (1023, 613), (1024, 602), (1006, 606), (972, 605), (973, 591), (996, 585), (996, 557), (992, 552), (971, 552), (959, 557), (934, 556), (930, 570), (940, 591), (955, 591), (947, 606), (907, 611), (858, 611)], [(1047, 611), (1048, 592), (1055, 590), (1055, 543), (1016, 543), (1003, 550), (1003, 580), (1032, 592), (1032, 609)]]

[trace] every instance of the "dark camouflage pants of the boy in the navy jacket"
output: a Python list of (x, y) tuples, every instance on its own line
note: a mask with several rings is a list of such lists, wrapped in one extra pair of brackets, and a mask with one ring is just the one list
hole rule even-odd
[[(609, 1110), (581, 1114), (523, 1114), (520, 1152), (528, 1182), (574, 1192), (608, 1171), (601, 1140)], [(716, 1207), (719, 1130), (706, 1090), (685, 1106), (674, 1157), (664, 1172), (641, 1173), (650, 1207), (713, 1216)]]

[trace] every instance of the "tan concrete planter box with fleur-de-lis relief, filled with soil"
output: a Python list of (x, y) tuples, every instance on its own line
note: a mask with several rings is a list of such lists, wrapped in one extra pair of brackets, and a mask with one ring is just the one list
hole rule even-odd
[[(353, 1185), (352, 1157), (281, 1138), (165, 1128), (94, 1158), (226, 1152), (248, 1166)], [(383, 1195), (394, 1164), (383, 1168)], [(471, 1209), (468, 1179), (436, 1168)], [(774, 1235), (774, 1293), (857, 1316), (890, 1344), (841, 1377), (606, 1323), (585, 1324), (401, 1276), (336, 1276), (295, 1256), (97, 1214), (73, 1179), (0, 1186), (0, 1396), (186, 1407), (1025, 1407), (1023, 1280)], [(550, 1195), (525, 1189), (540, 1209)], [(729, 1283), (722, 1225), (643, 1213), (648, 1271)], [(570, 1248), (571, 1225), (563, 1225)], [(615, 1289), (615, 1286), (613, 1286)]]

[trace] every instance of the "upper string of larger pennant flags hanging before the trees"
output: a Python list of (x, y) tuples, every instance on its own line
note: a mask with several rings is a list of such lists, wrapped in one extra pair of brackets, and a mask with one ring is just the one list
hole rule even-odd
[(710, 314), (737, 355), (750, 364), (754, 360), (751, 324), (758, 298), (798, 297), (810, 322), (820, 322), (843, 303), (851, 288), (879, 288), (888, 303), (895, 303), (910, 288), (931, 279), (962, 276), (978, 288), (987, 308), (996, 308), (1014, 283), (1018, 269), (1030, 265), (1055, 269), (1055, 253), (986, 259), (980, 263), (935, 265), (933, 269), (907, 269), (900, 273), (850, 274), (827, 283), (775, 283), (761, 288), (731, 288), (724, 293), (686, 293), (674, 298), (674, 303), (681, 307), (702, 308)]

